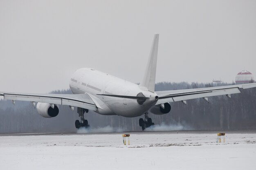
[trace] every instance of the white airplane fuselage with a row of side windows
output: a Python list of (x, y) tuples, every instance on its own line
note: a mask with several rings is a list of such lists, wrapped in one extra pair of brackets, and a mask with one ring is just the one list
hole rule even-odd
[[(70, 79), (70, 89), (74, 94), (90, 93), (96, 96), (95, 100), (101, 108), (95, 112), (101, 115), (137, 117), (150, 110), (157, 102), (156, 93), (143, 90), (137, 84), (91, 68), (80, 68), (74, 72)], [(136, 99), (99, 95), (136, 96), (139, 93), (148, 97), (143, 104), (139, 104)]]

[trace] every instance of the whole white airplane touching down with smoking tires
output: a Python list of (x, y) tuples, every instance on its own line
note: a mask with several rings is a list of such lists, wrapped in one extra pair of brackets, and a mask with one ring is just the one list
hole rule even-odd
[[(92, 68), (77, 70), (70, 79), (70, 89), (73, 94), (30, 94), (0, 92), (4, 99), (30, 101), (38, 113), (43, 117), (56, 117), (58, 105), (68, 105), (71, 110), (77, 107), (81, 121), (76, 120), (75, 126), (88, 127), (84, 113), (93, 110), (101, 115), (120, 115), (124, 117), (138, 117), (142, 130), (154, 125), (148, 117), (148, 112), (162, 115), (169, 113), (169, 102), (203, 98), (208, 102), (208, 97), (240, 93), (239, 88), (256, 87), (256, 83), (237, 84), (231, 86), (195, 88), (186, 90), (155, 91), (155, 73), (157, 65), (159, 34), (155, 34), (151, 47), (146, 71), (139, 85), (119, 79), (107, 73)], [(36, 102), (37, 105), (36, 105)]]

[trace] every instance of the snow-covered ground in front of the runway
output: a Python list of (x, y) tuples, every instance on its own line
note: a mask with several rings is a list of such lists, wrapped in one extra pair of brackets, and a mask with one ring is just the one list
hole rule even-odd
[(131, 132), (0, 136), (0, 170), (255, 170), (256, 134)]

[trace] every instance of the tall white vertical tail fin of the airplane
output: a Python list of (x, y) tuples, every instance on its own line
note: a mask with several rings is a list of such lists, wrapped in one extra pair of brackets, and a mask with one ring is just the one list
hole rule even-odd
[(157, 51), (158, 51), (159, 34), (155, 33), (153, 44), (148, 59), (148, 64), (144, 73), (144, 77), (139, 86), (146, 87), (148, 91), (155, 92), (155, 73), (157, 69)]

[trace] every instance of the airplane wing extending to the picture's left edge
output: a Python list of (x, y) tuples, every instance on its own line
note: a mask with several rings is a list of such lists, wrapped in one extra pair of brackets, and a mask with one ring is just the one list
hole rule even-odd
[(42, 102), (59, 104), (97, 110), (97, 106), (88, 94), (31, 94), (31, 93), (8, 93), (0, 92), (7, 100), (20, 100), (29, 102)]

